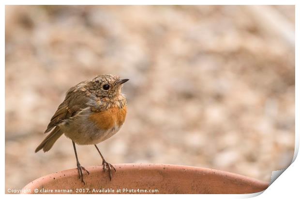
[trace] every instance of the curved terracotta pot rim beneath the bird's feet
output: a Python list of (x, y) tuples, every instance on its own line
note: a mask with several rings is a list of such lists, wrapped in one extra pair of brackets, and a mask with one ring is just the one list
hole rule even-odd
[(84, 185), (74, 168), (34, 180), (23, 188), (23, 193), (34, 194), (36, 189), (46, 194), (51, 190), (53, 193), (72, 191), (73, 194), (141, 194), (146, 193), (144, 190), (147, 193), (154, 190), (158, 194), (249, 194), (269, 186), (268, 182), (242, 175), (192, 166), (122, 164), (115, 167), (117, 171), (113, 171), (111, 181), (102, 166), (89, 166), (86, 169), (90, 175), (84, 173)]

